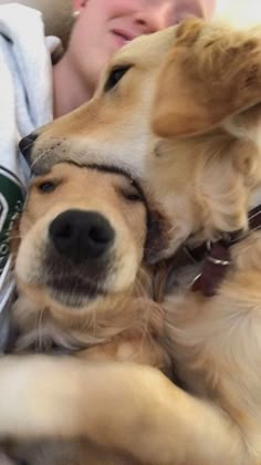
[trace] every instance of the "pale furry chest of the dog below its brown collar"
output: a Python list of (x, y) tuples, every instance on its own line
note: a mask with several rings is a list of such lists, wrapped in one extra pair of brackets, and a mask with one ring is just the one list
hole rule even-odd
[(192, 292), (188, 281), (169, 293), (165, 329), (180, 384), (221, 405), (242, 427), (257, 423), (261, 430), (261, 291), (252, 245), (250, 238), (233, 248), (215, 297)]

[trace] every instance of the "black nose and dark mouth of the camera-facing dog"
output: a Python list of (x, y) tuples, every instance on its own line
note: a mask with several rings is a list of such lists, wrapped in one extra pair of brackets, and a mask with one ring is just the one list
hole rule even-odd
[(106, 292), (115, 266), (115, 231), (103, 215), (65, 210), (52, 220), (48, 236), (41, 283), (54, 299), (77, 307)]

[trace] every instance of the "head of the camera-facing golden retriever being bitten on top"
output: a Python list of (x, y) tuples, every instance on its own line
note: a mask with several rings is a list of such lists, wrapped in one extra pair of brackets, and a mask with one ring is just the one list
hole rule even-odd
[(122, 170), (53, 166), (32, 182), (20, 220), (20, 291), (39, 308), (61, 304), (62, 311), (128, 292), (146, 248), (160, 247), (154, 209)]

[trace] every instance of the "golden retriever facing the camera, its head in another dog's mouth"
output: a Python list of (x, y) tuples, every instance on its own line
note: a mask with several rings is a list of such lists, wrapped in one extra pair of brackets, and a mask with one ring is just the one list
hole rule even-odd
[[(121, 169), (64, 163), (36, 176), (15, 236), (19, 297), (9, 350), (168, 371), (155, 272), (146, 265), (146, 249), (166, 240), (165, 231), (152, 196)], [(134, 463), (83, 441), (11, 447), (10, 454), (33, 465), (69, 457), (75, 465)]]

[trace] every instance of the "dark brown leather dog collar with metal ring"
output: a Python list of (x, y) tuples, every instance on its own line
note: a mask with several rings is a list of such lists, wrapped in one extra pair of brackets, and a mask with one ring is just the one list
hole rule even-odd
[(253, 231), (261, 229), (261, 205), (252, 208), (249, 211), (248, 217), (248, 230), (225, 234), (223, 238), (215, 244), (205, 242), (192, 250), (186, 248), (187, 254), (189, 254), (190, 259), (192, 259), (194, 262), (203, 260), (201, 272), (192, 282), (192, 292), (201, 291), (206, 297), (212, 297), (217, 293), (217, 289), (231, 264), (230, 247), (243, 240), (249, 230)]

